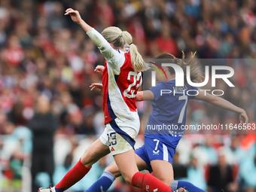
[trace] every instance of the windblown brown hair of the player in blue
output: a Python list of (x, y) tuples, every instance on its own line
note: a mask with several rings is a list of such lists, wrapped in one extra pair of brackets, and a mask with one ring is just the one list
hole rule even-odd
[[(190, 66), (190, 79), (192, 82), (195, 81), (201, 81), (201, 79), (203, 78), (202, 73), (198, 70), (200, 69), (199, 66), (197, 66), (197, 62), (192, 62), (192, 60), (194, 59), (194, 56), (196, 55), (195, 53), (191, 53), (191, 59), (188, 62), (184, 62), (184, 57), (185, 54), (182, 51), (182, 59), (178, 59), (175, 56), (173, 56), (170, 53), (163, 53), (160, 54), (159, 56), (157, 56), (156, 58), (154, 58), (154, 62), (156, 62), (158, 65), (162, 65), (163, 63), (174, 63), (177, 64), (178, 66), (181, 67), (181, 69), (183, 69), (184, 72), (184, 82), (187, 83), (187, 66)], [(172, 67), (167, 67), (169, 72), (171, 74), (175, 74), (175, 71)]]

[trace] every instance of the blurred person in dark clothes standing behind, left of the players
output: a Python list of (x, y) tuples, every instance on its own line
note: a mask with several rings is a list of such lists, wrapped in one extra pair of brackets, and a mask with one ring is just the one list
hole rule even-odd
[(38, 98), (35, 116), (29, 121), (28, 127), (33, 133), (32, 191), (37, 191), (35, 176), (38, 172), (47, 172), (50, 182), (53, 182), (53, 136), (58, 128), (58, 122), (50, 111), (50, 101), (46, 96)]

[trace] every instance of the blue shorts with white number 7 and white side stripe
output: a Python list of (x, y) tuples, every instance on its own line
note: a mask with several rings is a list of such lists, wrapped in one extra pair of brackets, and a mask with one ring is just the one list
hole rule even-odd
[(142, 158), (142, 160), (149, 166), (149, 171), (153, 172), (151, 168), (152, 160), (166, 160), (172, 163), (173, 155), (175, 154), (175, 148), (171, 148), (165, 145), (158, 139), (145, 137), (145, 145), (141, 148), (137, 148), (135, 153)]

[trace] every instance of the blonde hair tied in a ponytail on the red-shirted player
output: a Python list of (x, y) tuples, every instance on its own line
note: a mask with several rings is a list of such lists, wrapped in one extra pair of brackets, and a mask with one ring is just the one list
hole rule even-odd
[(123, 48), (126, 44), (130, 45), (130, 56), (132, 60), (133, 69), (136, 72), (145, 69), (145, 62), (142, 59), (135, 44), (133, 44), (133, 37), (129, 32), (123, 31), (115, 26), (110, 26), (103, 30), (102, 36), (114, 47)]

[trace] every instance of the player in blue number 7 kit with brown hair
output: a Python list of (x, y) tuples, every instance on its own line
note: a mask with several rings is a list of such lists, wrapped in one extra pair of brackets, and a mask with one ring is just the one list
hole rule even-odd
[[(183, 59), (177, 59), (168, 53), (157, 56), (154, 60), (154, 62), (160, 66), (162, 63), (178, 64), (184, 71), (186, 66), (192, 63), (191, 61), (192, 59), (190, 62), (185, 63), (184, 55)], [(137, 166), (139, 170), (149, 169), (152, 171), (153, 169), (154, 176), (169, 185), (172, 190), (179, 188), (178, 191), (184, 191), (185, 188), (185, 191), (188, 190), (189, 192), (205, 192), (205, 190), (201, 190), (190, 182), (175, 181), (173, 177), (172, 157), (175, 154), (175, 148), (183, 134), (181, 127), (185, 125), (188, 100), (203, 100), (217, 105), (218, 107), (239, 113), (240, 123), (247, 124), (248, 117), (242, 108), (238, 108), (218, 96), (205, 93), (197, 87), (192, 87), (189, 84), (185, 84), (184, 87), (175, 87), (174, 69), (163, 66), (163, 70), (166, 72), (166, 81), (163, 81), (160, 75), (157, 74), (156, 78), (159, 83), (155, 87), (137, 93), (137, 101), (151, 100), (152, 102), (152, 111), (148, 117), (148, 124), (144, 135), (145, 145), (143, 145), (142, 148), (136, 149)], [(96, 69), (96, 71), (99, 71), (99, 68)], [(186, 74), (186, 72), (184, 72), (184, 74)], [(197, 72), (196, 66), (190, 65), (191, 81), (199, 80), (200, 76), (200, 72)], [(185, 79), (186, 77), (184, 77), (184, 80)], [(92, 84), (90, 87), (92, 87), (92, 90), (95, 88), (101, 89), (102, 84)], [(165, 94), (163, 94), (161, 90), (165, 90)], [(190, 90), (190, 95), (198, 94), (197, 96), (190, 96), (187, 94), (187, 90)], [(156, 129), (157, 125), (163, 124), (166, 126), (176, 126), (178, 129), (163, 130), (162, 132)], [(111, 163), (111, 165), (105, 169), (102, 177), (92, 185), (94, 190), (90, 190), (92, 188), (90, 187), (85, 192), (100, 192), (101, 190), (96, 190), (96, 186), (99, 188), (102, 184), (104, 184), (105, 188), (110, 187), (114, 180), (110, 180), (110, 176), (108, 176), (108, 178), (105, 177), (107, 174), (111, 175), (113, 178), (120, 176), (120, 171), (116, 163)]]

